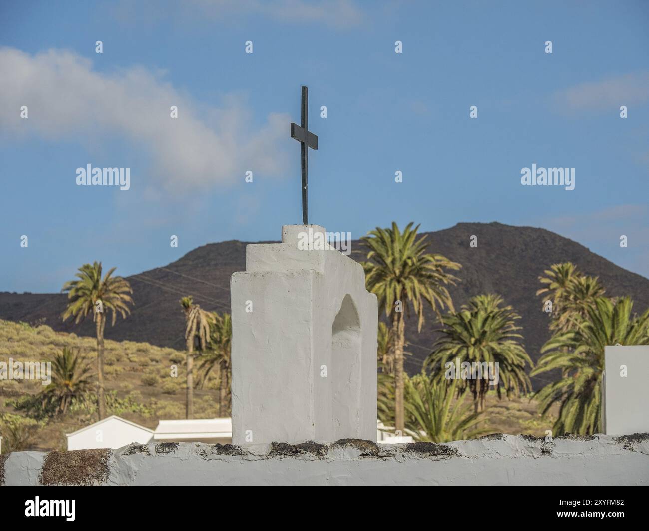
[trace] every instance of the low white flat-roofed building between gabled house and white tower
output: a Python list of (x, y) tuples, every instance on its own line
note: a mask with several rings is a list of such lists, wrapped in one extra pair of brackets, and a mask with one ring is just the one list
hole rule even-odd
[(232, 443), (232, 419), (161, 420), (153, 432), (156, 442)]

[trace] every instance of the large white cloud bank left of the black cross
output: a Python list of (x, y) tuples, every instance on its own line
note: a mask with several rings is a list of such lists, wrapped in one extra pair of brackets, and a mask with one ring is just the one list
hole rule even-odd
[[(56, 49), (31, 55), (1, 48), (0, 72), (6, 73), (0, 134), (79, 139), (91, 151), (123, 137), (151, 156), (149, 183), (156, 189), (190, 192), (242, 179), (248, 169), (269, 175), (286, 169), (279, 145), (288, 137), (289, 117), (269, 113), (251, 131), (251, 112), (234, 97), (220, 108), (201, 106), (163, 73), (143, 67), (99, 73), (90, 60)], [(23, 105), (28, 119), (20, 117)], [(169, 116), (171, 105), (178, 106), (177, 119)]]

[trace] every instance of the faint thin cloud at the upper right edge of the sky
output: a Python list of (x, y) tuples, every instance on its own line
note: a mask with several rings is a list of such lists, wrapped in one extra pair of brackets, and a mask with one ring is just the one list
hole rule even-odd
[(617, 110), (620, 105), (642, 104), (649, 100), (649, 72), (637, 72), (587, 82), (558, 91), (555, 100), (571, 111)]

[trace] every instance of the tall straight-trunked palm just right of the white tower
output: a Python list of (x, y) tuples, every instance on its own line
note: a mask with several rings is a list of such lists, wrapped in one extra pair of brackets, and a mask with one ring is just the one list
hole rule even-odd
[(458, 280), (445, 269), (458, 270), (456, 262), (440, 254), (426, 252), (426, 237), (417, 238), (419, 225), (413, 223), (400, 231), (395, 222), (392, 228), (376, 228), (363, 241), (369, 248), (367, 262), (363, 263), (367, 289), (378, 296), (380, 309), (392, 320), (393, 353), (395, 364), (395, 428), (404, 430), (404, 344), (406, 330), (404, 309), (410, 306), (417, 314), (417, 329), (424, 324), (424, 301), (439, 315), (445, 305), (453, 303), (445, 285)]

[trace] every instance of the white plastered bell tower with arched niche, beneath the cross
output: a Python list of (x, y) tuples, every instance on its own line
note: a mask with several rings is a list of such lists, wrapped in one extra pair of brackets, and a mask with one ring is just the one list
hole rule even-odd
[(356, 261), (282, 243), (250, 244), (230, 279), (232, 442), (376, 438), (376, 296)]

